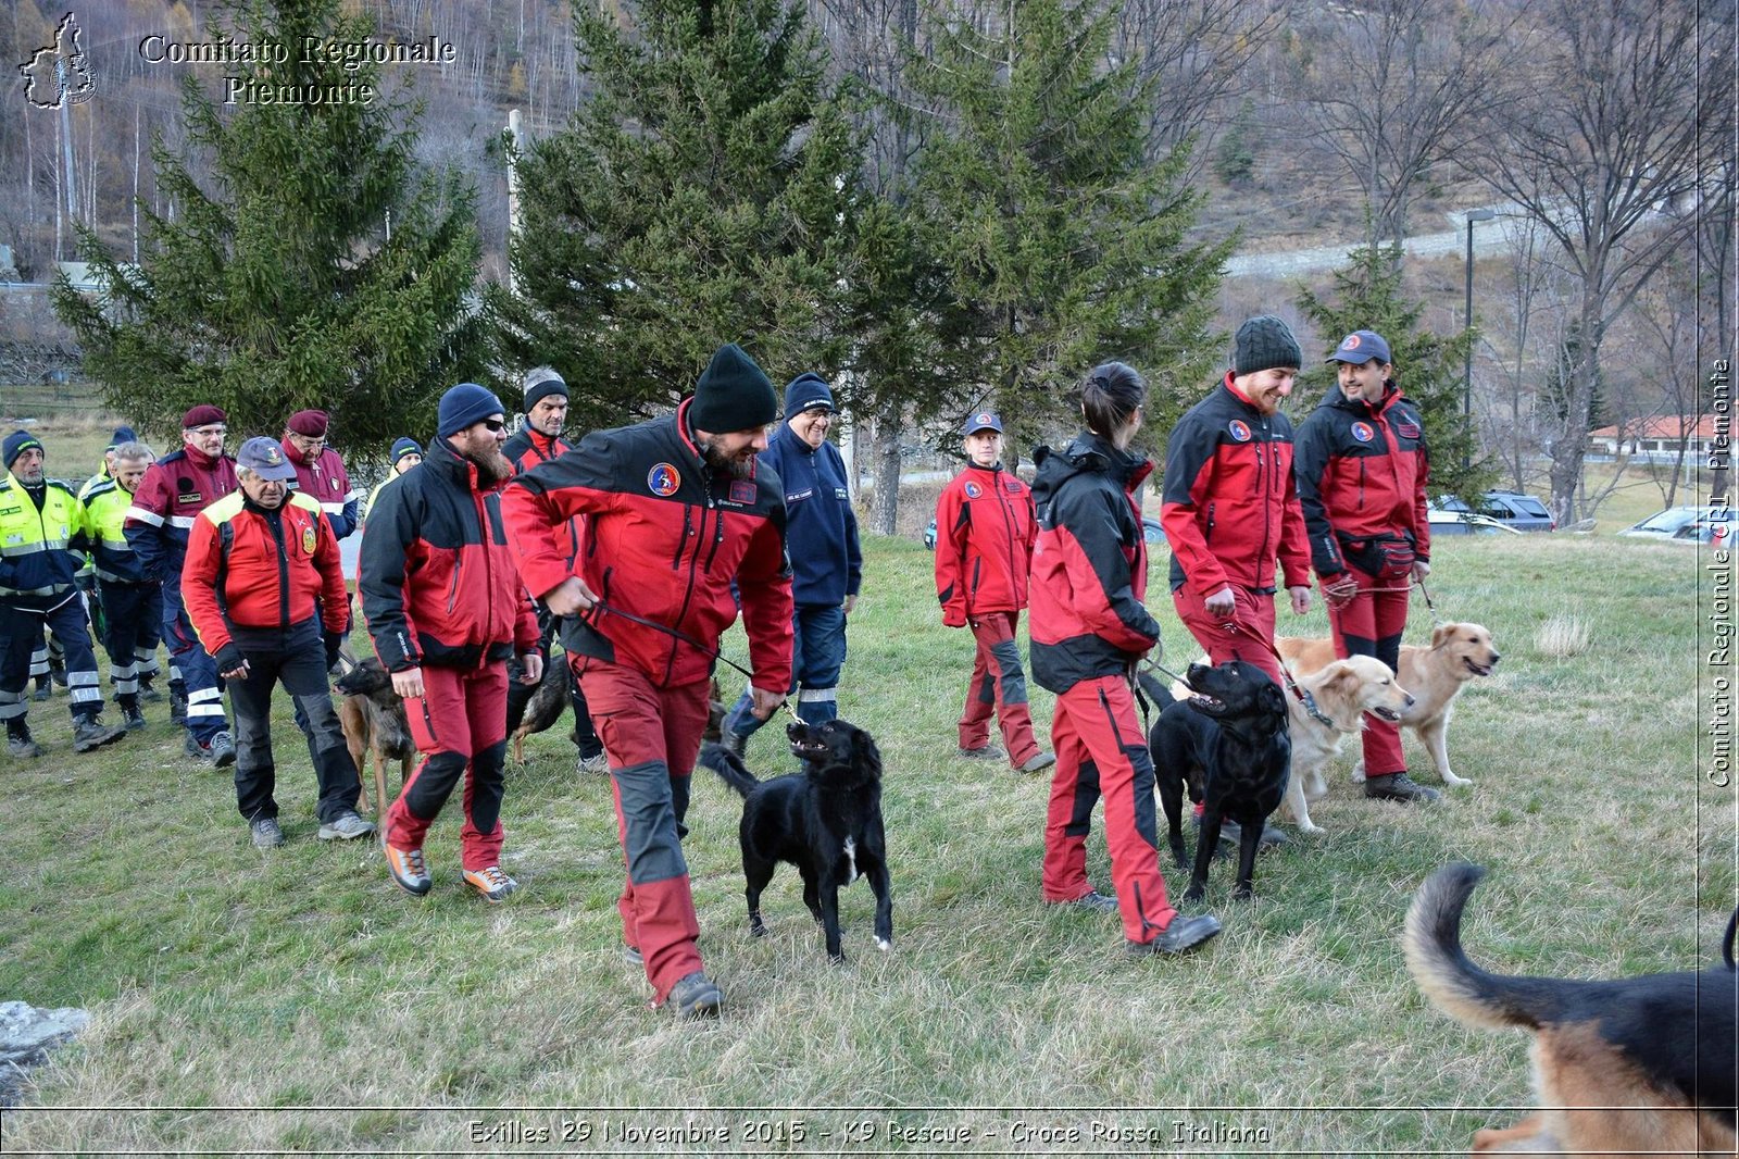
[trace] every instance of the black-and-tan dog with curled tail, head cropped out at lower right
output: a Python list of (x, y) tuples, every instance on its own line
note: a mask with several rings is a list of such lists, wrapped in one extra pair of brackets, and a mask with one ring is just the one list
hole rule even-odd
[(1534, 1035), (1539, 1112), (1473, 1136), (1475, 1152), (1734, 1154), (1739, 975), (1723, 964), (1612, 981), (1492, 975), (1461, 948), (1461, 912), (1485, 874), (1445, 865), (1407, 912), (1407, 969), (1431, 1002), (1476, 1027)]

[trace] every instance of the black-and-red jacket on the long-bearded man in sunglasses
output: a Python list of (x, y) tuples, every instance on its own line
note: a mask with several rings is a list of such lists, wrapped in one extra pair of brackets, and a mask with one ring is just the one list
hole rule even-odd
[(480, 668), (537, 649), (501, 496), (445, 439), (381, 491), (362, 533), (356, 590), (388, 672)]

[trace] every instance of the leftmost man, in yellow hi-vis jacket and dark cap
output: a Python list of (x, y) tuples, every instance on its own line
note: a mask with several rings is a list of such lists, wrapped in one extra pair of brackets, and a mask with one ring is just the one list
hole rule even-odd
[(43, 628), (66, 646), (66, 686), (71, 693), (73, 750), (89, 752), (127, 734), (103, 724), (97, 656), (85, 630), (85, 606), (73, 574), (83, 564), (75, 539), (83, 539), (78, 498), (59, 479), (42, 472), (42, 444), (16, 430), (0, 444), (0, 719), (5, 719), (7, 754), (40, 757), (30, 734), (24, 687), (30, 654)]

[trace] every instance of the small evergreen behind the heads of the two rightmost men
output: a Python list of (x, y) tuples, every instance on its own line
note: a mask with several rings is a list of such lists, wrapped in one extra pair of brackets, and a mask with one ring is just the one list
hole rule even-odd
[[(1421, 329), (1424, 303), (1402, 296), (1400, 247), (1355, 249), (1348, 265), (1334, 271), (1327, 296), (1303, 289), (1297, 305), (1315, 324), (1325, 352), (1353, 331), (1376, 331), (1388, 339), (1395, 381), (1424, 419), (1431, 494), (1457, 494), (1478, 508), (1475, 501), (1492, 486), (1496, 468), (1478, 447), (1478, 432), (1462, 416), (1462, 369), (1475, 332), (1442, 338)], [(1287, 405), (1294, 423), (1304, 421), (1323, 393), (1337, 390), (1332, 369), (1309, 357), (1309, 345), (1304, 350), (1306, 371)]]

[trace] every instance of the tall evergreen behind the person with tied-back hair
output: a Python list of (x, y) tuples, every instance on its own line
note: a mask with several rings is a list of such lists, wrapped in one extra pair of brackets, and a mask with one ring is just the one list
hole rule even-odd
[(1231, 249), (1186, 240), (1189, 143), (1151, 158), (1156, 92), (1136, 61), (1106, 63), (1115, 5), (1014, 0), (984, 21), (934, 17), (911, 63), (941, 115), (916, 160), (925, 247), (970, 310), (962, 412), (989, 402), (1024, 440), (1075, 426), (1080, 376), (1122, 358), (1155, 388), (1149, 430), (1169, 430), (1210, 378)]

